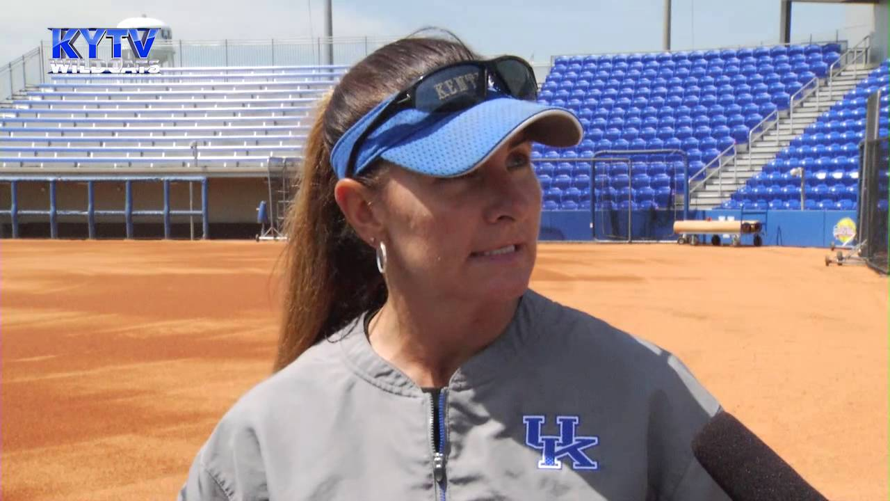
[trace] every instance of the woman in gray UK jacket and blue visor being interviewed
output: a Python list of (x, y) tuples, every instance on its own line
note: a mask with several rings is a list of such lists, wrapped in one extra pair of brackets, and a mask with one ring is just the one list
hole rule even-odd
[(581, 139), (526, 62), (409, 37), (321, 103), (287, 234), (275, 374), (186, 500), (724, 499), (719, 410), (675, 357), (528, 290), (531, 142)]

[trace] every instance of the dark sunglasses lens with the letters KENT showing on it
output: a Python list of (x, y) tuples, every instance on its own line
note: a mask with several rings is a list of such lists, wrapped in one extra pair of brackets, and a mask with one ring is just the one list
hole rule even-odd
[(417, 86), (418, 110), (453, 111), (479, 103), (485, 89), (483, 72), (472, 64), (436, 71)]

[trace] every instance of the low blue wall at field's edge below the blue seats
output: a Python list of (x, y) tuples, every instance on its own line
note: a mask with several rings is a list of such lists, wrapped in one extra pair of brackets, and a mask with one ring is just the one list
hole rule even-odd
[[(843, 218), (856, 220), (854, 210), (690, 210), (690, 219), (735, 218), (757, 220), (764, 223), (764, 245), (790, 247), (829, 247), (840, 245), (833, 234), (837, 222)], [(593, 223), (596, 226), (593, 227)], [(640, 210), (632, 215), (634, 236), (655, 235), (659, 240), (674, 240), (673, 213), (667, 211)], [(541, 213), (538, 239), (542, 241), (592, 241), (594, 231), (597, 240), (608, 234), (627, 235), (627, 212), (589, 210), (546, 210)], [(724, 238), (724, 243), (729, 243)], [(706, 242), (709, 241), (709, 238)], [(751, 237), (742, 239), (750, 243)]]

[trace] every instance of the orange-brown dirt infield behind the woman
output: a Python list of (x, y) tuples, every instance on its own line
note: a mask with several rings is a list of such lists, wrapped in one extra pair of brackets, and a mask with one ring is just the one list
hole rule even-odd
[[(4, 500), (173, 499), (269, 374), (281, 247), (0, 242)], [(675, 352), (830, 499), (886, 499), (886, 278), (824, 254), (542, 244), (532, 287)]]

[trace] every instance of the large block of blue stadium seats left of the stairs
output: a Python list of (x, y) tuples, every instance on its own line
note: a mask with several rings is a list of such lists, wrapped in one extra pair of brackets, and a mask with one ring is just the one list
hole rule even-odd
[[(689, 173), (787, 110), (828, 76), (842, 50), (829, 43), (557, 58), (539, 102), (574, 111), (585, 136), (574, 148), (538, 145), (532, 153), (544, 209), (672, 207)], [(664, 153), (634, 153), (629, 165), (576, 160), (629, 150), (682, 150), (688, 165)]]

